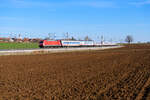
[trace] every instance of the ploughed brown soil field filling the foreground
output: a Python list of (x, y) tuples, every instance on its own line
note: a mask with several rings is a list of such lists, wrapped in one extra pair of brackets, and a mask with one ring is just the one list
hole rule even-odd
[(149, 100), (150, 45), (0, 56), (0, 100)]

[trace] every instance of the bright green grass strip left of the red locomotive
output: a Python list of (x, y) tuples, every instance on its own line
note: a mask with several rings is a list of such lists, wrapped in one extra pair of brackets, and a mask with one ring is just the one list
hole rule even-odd
[(39, 48), (38, 43), (0, 43), (0, 49), (32, 49)]

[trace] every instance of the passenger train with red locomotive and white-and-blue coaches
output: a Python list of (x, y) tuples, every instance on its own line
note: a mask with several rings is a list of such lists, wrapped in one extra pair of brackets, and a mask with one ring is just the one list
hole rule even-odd
[(41, 40), (40, 48), (59, 48), (59, 47), (99, 47), (99, 46), (114, 46), (114, 44), (100, 44), (94, 41), (75, 41), (75, 40)]

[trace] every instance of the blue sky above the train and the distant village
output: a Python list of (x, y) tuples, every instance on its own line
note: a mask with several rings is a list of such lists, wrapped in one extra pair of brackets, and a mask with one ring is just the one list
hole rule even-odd
[(66, 32), (81, 39), (132, 35), (135, 42), (150, 41), (150, 0), (0, 0), (0, 36), (61, 38)]

